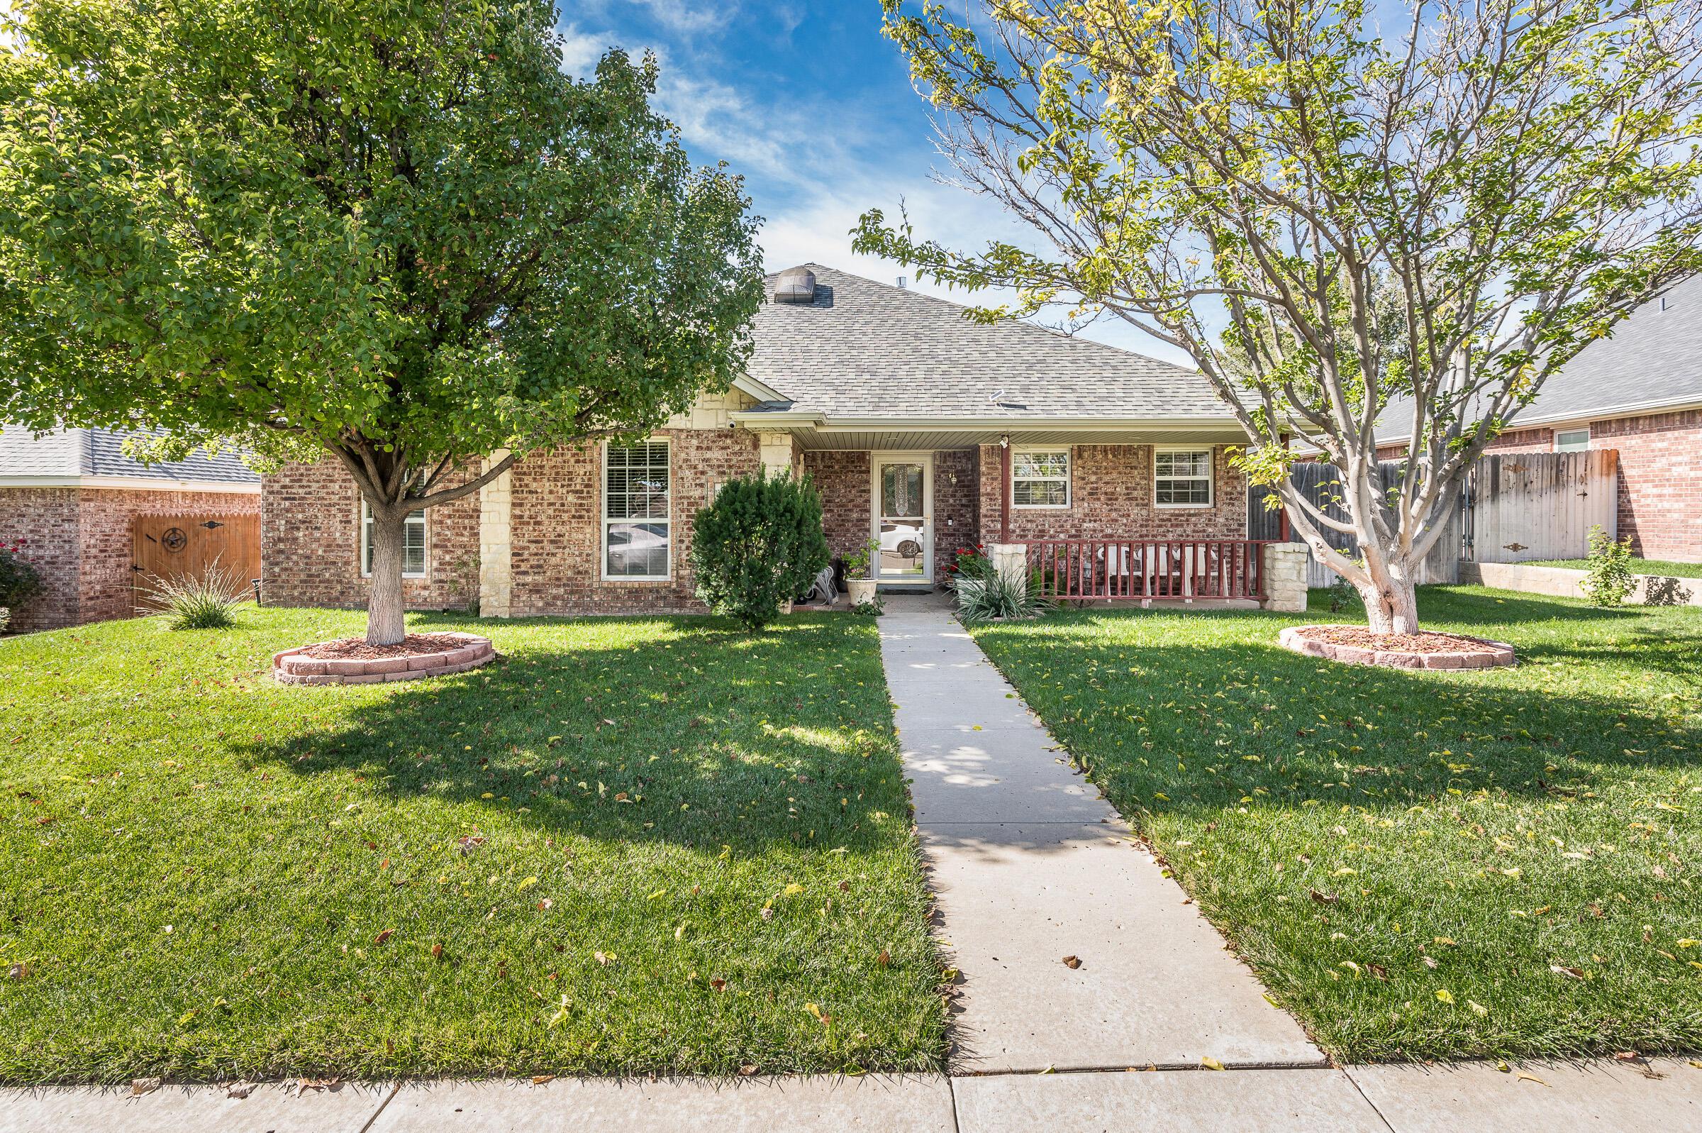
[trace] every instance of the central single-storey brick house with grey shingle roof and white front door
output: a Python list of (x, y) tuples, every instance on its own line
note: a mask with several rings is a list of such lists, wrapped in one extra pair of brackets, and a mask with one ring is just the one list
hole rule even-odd
[[(701, 610), (693, 515), (762, 467), (814, 477), (832, 552), (873, 538), (888, 590), (931, 588), (979, 542), (1028, 543), (1038, 562), (1062, 550), (1038, 540), (1084, 538), (1224, 540), (1118, 550), (1145, 564), (1125, 590), (1156, 593), (1157, 569), (1191, 574), (1197, 596), (1258, 581), (1246, 477), (1229, 462), (1242, 433), (1198, 373), (1026, 322), (982, 325), (957, 303), (817, 264), (768, 279), (754, 341), (734, 388), (647, 441), (531, 455), (419, 513), (407, 601), (477, 598), (487, 615)], [(364, 603), (364, 532), (337, 463), (266, 477), (267, 600)], [(1101, 567), (1108, 554), (1089, 552)]]

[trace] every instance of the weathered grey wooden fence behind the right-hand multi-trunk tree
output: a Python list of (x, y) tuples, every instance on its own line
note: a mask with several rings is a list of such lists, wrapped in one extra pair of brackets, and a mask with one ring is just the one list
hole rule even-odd
[[(1379, 467), (1384, 491), (1401, 482), (1401, 463)], [(1336, 503), (1341, 474), (1328, 463), (1297, 463), (1290, 472), (1295, 487), (1324, 515), (1345, 520)], [(1491, 453), (1479, 457), (1465, 475), (1454, 515), (1436, 537), (1418, 572), (1419, 583), (1457, 583), (1460, 559), (1476, 562), (1520, 562), (1525, 559), (1578, 559), (1588, 550), (1590, 528), (1602, 525), (1617, 535), (1619, 453)], [(1248, 492), (1248, 537), (1278, 538), (1282, 513), (1266, 511), (1268, 487)], [(1350, 559), (1360, 549), (1351, 535), (1324, 532), (1331, 547)], [(1336, 572), (1314, 555), (1307, 564), (1307, 586), (1329, 586)]]

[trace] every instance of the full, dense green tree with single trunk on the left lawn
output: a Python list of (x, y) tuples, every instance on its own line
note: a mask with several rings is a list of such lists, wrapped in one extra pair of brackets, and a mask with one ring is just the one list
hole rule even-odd
[(0, 421), (335, 457), (408, 513), (725, 387), (754, 218), (543, 0), (20, 0), (0, 55)]

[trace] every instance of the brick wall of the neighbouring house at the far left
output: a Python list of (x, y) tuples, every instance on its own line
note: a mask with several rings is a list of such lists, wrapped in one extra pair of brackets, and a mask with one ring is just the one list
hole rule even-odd
[(252, 492), (106, 487), (0, 489), (0, 542), (22, 538), (48, 584), (14, 612), (12, 629), (39, 630), (134, 613), (131, 521), (140, 515), (254, 515)]

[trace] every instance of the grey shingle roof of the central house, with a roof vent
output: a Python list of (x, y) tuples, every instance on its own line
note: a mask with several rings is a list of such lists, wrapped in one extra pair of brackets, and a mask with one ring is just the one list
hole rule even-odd
[[(982, 325), (948, 300), (820, 264), (814, 303), (756, 315), (749, 377), (832, 417), (1222, 417), (1181, 366), (1028, 322)], [(1001, 394), (994, 402), (994, 395)]]

